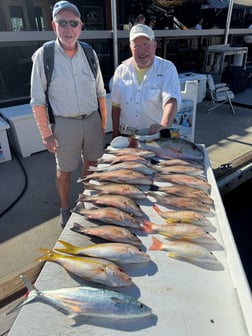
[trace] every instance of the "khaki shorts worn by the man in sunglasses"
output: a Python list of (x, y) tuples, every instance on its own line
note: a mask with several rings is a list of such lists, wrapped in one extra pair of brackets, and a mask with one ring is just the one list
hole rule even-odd
[(98, 111), (83, 120), (55, 117), (53, 133), (59, 143), (55, 154), (58, 170), (74, 171), (80, 159), (96, 161), (103, 155), (104, 136)]

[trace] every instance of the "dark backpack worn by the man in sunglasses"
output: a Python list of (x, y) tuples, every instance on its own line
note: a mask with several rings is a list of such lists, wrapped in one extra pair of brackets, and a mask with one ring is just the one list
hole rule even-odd
[[(87, 57), (89, 66), (94, 74), (94, 77), (96, 78), (97, 76), (97, 62), (94, 56), (94, 51), (91, 47), (90, 44), (86, 43), (86, 42), (82, 42), (79, 41), (79, 44), (81, 45), (81, 47), (83, 48), (85, 55)], [(54, 115), (53, 115), (53, 111), (52, 111), (52, 107), (51, 104), (49, 102), (49, 98), (48, 98), (48, 88), (51, 82), (51, 78), (52, 78), (52, 72), (53, 72), (53, 66), (54, 66), (54, 45), (55, 45), (55, 41), (49, 41), (44, 43), (43, 48), (43, 60), (44, 60), (44, 71), (45, 71), (45, 76), (46, 76), (46, 102), (47, 102), (47, 112), (48, 112), (48, 117), (49, 117), (49, 122), (50, 124), (54, 124), (55, 120), (54, 120)]]

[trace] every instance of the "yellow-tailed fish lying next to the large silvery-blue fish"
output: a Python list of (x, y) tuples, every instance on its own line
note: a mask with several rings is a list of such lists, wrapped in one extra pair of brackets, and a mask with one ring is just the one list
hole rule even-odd
[(132, 285), (129, 275), (112, 261), (102, 258), (63, 255), (45, 248), (41, 248), (40, 251), (45, 254), (37, 258), (38, 261), (58, 263), (68, 272), (87, 281), (112, 287)]

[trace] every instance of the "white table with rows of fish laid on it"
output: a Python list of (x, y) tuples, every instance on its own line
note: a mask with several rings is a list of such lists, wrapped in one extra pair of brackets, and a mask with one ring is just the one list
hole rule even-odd
[[(51, 306), (33, 302), (21, 309), (9, 336), (252, 335), (250, 289), (207, 154), (205, 163), (208, 181), (212, 185), (211, 196), (215, 201), (215, 211), (209, 219), (217, 228), (213, 235), (224, 247), (224, 250), (213, 253), (224, 270), (205, 270), (171, 259), (164, 251), (149, 251), (151, 234), (141, 235), (151, 262), (126, 267), (134, 286), (120, 291), (150, 306), (153, 316), (122, 321), (80, 317), (75, 322)], [(151, 204), (148, 201), (141, 204), (150, 219), (159, 223), (160, 218), (153, 212)], [(60, 239), (83, 246), (85, 237), (70, 230), (73, 222), (85, 225), (83, 217), (73, 214)], [(46, 290), (78, 286), (80, 283), (85, 284), (71, 277), (60, 265), (47, 262), (35, 285), (40, 290)]]

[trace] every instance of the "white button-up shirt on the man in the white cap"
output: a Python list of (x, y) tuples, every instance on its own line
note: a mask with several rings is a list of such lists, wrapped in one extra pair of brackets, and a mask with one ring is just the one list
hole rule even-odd
[(120, 64), (115, 70), (111, 99), (120, 106), (120, 125), (137, 129), (160, 123), (163, 108), (171, 98), (181, 104), (181, 88), (175, 65), (155, 56), (153, 65), (138, 84), (133, 58)]

